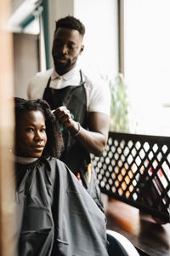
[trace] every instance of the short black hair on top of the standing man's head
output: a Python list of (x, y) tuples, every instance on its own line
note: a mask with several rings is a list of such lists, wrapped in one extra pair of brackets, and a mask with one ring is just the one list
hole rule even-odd
[(85, 26), (80, 20), (71, 15), (57, 20), (55, 22), (55, 31), (57, 31), (59, 27), (76, 29), (82, 36), (85, 34)]

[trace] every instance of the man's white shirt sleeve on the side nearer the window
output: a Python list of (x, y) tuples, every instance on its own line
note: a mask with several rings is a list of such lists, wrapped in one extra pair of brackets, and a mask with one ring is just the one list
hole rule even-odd
[(88, 112), (100, 112), (110, 115), (111, 91), (104, 81), (88, 83), (87, 92)]

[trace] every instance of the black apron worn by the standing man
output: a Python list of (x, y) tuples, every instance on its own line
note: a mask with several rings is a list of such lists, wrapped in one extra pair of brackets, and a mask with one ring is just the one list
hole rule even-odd
[[(72, 118), (79, 122), (80, 125), (88, 128), (88, 112), (87, 112), (87, 96), (84, 83), (82, 80), (82, 72), (80, 70), (80, 84), (77, 86), (69, 85), (63, 89), (50, 88), (51, 77), (48, 79), (47, 87), (43, 93), (43, 100), (47, 101), (52, 109), (65, 106), (71, 112)], [(76, 176), (80, 176), (82, 184), (88, 193), (94, 198), (94, 201), (102, 207), (100, 201), (100, 192), (93, 168), (90, 172), (89, 182), (89, 164), (90, 154), (88, 151), (77, 143), (74, 137), (71, 137), (68, 131), (63, 130), (63, 138), (65, 143), (64, 151), (60, 160), (71, 169)]]

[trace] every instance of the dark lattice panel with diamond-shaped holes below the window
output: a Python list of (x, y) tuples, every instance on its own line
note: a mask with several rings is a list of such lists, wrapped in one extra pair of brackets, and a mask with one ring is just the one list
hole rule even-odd
[(169, 137), (110, 132), (93, 163), (103, 193), (169, 222)]

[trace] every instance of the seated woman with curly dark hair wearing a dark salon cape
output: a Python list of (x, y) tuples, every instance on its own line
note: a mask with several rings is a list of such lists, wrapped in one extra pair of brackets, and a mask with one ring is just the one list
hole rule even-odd
[(59, 125), (47, 102), (15, 98), (20, 256), (108, 255), (105, 215), (60, 160)]

